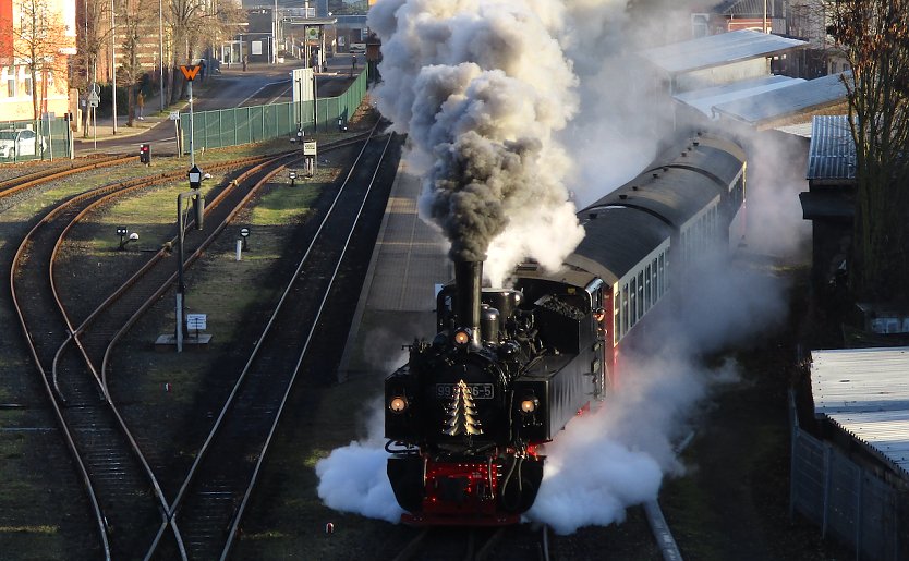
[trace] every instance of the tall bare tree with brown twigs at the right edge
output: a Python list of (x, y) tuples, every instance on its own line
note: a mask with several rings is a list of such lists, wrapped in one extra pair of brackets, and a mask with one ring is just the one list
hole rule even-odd
[(860, 300), (907, 300), (909, 286), (909, 0), (826, 1), (856, 143), (849, 282)]

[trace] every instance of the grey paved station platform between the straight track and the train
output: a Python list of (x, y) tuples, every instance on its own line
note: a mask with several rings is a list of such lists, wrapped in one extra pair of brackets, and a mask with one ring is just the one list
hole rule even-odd
[(420, 178), (401, 163), (388, 197), (338, 380), (385, 376), (407, 362), (403, 345), (435, 334), (436, 284), (453, 278), (448, 243), (417, 216)]

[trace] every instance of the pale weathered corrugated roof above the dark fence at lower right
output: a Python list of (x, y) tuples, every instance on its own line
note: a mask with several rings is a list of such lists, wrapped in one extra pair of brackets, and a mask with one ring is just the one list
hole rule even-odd
[(814, 412), (909, 477), (909, 347), (811, 352)]

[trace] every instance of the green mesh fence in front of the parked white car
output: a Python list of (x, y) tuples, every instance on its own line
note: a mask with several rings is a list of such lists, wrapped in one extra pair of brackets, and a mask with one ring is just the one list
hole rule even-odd
[(0, 162), (69, 158), (72, 131), (62, 117), (0, 124)]

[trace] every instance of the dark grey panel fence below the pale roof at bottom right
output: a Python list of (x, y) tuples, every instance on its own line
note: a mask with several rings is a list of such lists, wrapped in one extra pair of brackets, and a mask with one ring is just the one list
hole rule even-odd
[(802, 430), (791, 394), (789, 406), (790, 509), (853, 546), (856, 559), (909, 561), (906, 493)]

